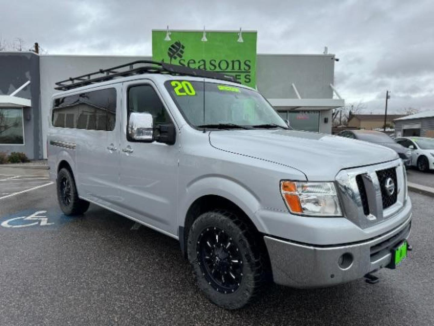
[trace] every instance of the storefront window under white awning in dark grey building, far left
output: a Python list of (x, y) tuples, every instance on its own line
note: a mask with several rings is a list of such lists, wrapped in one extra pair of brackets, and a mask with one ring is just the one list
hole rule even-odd
[(24, 144), (22, 108), (0, 108), (0, 144)]

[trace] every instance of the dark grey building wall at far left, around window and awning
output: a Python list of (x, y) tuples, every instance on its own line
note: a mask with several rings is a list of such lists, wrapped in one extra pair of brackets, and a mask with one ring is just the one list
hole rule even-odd
[(28, 80), (30, 85), (16, 94), (31, 100), (31, 107), (23, 109), (24, 145), (0, 145), (0, 152), (23, 152), (30, 159), (40, 159), (43, 143), (39, 56), (32, 52), (0, 52), (0, 95), (10, 95)]

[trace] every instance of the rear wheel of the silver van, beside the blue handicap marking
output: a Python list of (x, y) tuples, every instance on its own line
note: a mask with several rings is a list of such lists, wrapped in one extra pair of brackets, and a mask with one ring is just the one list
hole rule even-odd
[(68, 169), (60, 169), (57, 174), (56, 188), (57, 200), (65, 215), (81, 215), (88, 210), (89, 202), (79, 198), (76, 183)]

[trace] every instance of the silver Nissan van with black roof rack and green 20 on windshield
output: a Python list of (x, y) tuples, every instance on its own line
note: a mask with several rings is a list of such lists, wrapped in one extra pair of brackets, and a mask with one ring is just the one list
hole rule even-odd
[(233, 77), (136, 61), (56, 83), (50, 176), (66, 215), (96, 204), (179, 240), (237, 309), (268, 282), (312, 288), (395, 269), (411, 247), (397, 153), (290, 130)]

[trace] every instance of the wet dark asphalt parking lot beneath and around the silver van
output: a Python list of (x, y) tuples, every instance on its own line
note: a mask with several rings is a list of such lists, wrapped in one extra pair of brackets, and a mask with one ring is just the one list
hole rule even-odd
[(414, 250), (378, 272), (380, 283), (270, 286), (257, 303), (226, 311), (197, 289), (177, 241), (96, 206), (64, 216), (55, 185), (35, 179), (46, 170), (0, 174), (2, 326), (434, 324), (431, 197), (410, 193)]

